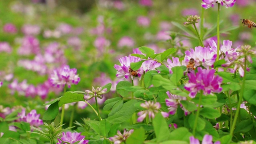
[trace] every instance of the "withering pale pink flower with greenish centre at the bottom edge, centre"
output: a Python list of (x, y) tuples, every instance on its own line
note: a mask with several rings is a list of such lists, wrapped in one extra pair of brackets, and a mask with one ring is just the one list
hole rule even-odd
[(110, 137), (109, 140), (111, 142), (114, 142), (114, 144), (121, 144), (122, 142), (125, 142), (126, 139), (133, 133), (133, 129), (126, 132), (126, 129), (124, 129), (124, 134), (122, 134), (119, 130), (117, 130), (117, 135)]

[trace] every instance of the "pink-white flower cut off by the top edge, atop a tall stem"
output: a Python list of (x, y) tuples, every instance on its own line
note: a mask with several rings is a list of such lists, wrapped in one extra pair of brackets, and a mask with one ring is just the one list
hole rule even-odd
[(234, 6), (236, 0), (202, 0), (202, 7), (207, 9), (210, 7), (214, 7), (216, 4), (221, 4), (226, 8)]

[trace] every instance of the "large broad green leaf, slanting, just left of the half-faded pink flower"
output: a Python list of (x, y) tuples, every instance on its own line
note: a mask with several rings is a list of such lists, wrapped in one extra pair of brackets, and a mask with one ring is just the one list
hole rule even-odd
[(137, 110), (137, 108), (134, 106), (134, 104), (136, 103), (137, 100), (129, 100), (128, 102), (124, 103), (122, 108), (118, 112), (116, 112), (116, 114), (109, 116), (107, 119), (112, 124), (121, 123), (128, 120)]

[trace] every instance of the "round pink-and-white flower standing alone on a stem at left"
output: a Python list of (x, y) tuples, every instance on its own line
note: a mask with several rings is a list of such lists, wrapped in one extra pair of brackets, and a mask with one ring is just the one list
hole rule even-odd
[(68, 88), (71, 87), (71, 84), (78, 84), (80, 81), (79, 76), (76, 74), (76, 68), (70, 69), (68, 65), (54, 70), (50, 79), (53, 86), (60, 87), (66, 84)]

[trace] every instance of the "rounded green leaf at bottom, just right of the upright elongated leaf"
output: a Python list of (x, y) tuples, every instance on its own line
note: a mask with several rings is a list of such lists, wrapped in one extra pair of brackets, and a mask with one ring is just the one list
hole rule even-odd
[(182, 140), (182, 141), (189, 141), (189, 137), (193, 136), (187, 128), (180, 127), (171, 132), (171, 140)]

